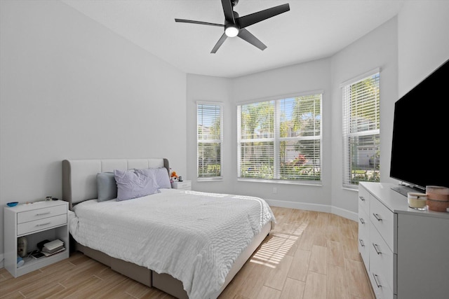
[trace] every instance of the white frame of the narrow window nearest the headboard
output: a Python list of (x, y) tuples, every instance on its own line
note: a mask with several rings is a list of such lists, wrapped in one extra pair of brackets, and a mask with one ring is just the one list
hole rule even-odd
[[(199, 119), (198, 112), (200, 105), (219, 106), (220, 107), (220, 139), (199, 139)], [(222, 102), (196, 101), (196, 181), (221, 181), (223, 179), (223, 112)], [(204, 141), (208, 140), (208, 141)], [(220, 143), (220, 176), (200, 176), (199, 173), (199, 144), (200, 143)]]

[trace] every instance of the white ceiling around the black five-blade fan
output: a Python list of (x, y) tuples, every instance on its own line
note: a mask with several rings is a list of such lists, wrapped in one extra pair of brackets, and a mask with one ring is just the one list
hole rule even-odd
[(234, 78), (329, 57), (398, 13), (404, 0), (240, 0), (248, 15), (281, 4), (290, 11), (247, 27), (267, 49), (228, 38), (210, 54), (222, 24), (220, 0), (62, 0), (113, 32), (189, 74)]

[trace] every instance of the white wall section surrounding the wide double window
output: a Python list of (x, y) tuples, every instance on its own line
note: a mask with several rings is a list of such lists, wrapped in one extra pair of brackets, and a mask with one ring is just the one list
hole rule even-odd
[[(230, 186), (234, 192), (255, 195), (279, 207), (328, 211), (330, 204), (330, 60), (322, 59), (290, 67), (273, 69), (261, 73), (232, 79), (231, 102), (233, 113), (231, 129), (233, 139), (228, 147), (232, 151), (232, 173), (234, 181)], [(322, 139), (323, 160), (321, 169), (322, 186), (291, 185), (285, 183), (255, 183), (237, 181), (237, 119), (236, 106), (241, 102), (267, 97), (300, 94), (323, 90)], [(235, 162), (234, 162), (235, 161)], [(276, 187), (276, 193), (273, 188)]]

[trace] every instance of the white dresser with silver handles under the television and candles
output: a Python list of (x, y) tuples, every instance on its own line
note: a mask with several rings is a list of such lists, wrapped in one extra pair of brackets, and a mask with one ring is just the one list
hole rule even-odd
[(411, 209), (392, 186), (358, 187), (358, 251), (376, 298), (449, 298), (449, 213)]

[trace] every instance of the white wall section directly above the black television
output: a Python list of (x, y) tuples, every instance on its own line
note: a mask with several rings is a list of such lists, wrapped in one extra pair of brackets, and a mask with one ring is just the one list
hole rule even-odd
[(449, 59), (449, 1), (407, 1), (398, 14), (399, 97)]

